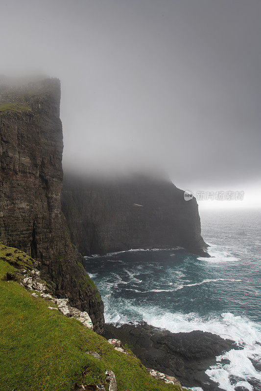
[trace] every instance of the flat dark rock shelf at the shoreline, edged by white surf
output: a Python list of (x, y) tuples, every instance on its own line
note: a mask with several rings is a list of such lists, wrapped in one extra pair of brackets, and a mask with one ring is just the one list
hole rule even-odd
[(234, 341), (209, 332), (171, 333), (146, 323), (120, 327), (106, 324), (105, 337), (119, 338), (145, 367), (175, 376), (185, 387), (201, 387), (204, 391), (220, 390), (205, 370), (215, 364), (216, 356), (237, 348)]

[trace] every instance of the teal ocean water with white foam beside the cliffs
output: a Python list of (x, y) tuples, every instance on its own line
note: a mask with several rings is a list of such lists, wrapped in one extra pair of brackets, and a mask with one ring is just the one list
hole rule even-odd
[(232, 339), (242, 349), (216, 357), (206, 374), (226, 391), (259, 391), (261, 210), (203, 210), (200, 217), (211, 258), (180, 248), (130, 250), (86, 258), (86, 270), (101, 293), (106, 323), (145, 321)]

